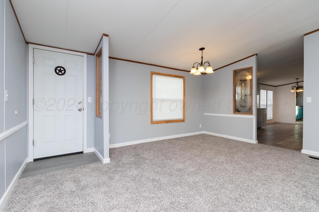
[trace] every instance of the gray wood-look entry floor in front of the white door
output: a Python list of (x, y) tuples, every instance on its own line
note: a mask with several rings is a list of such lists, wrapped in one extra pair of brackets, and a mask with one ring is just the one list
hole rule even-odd
[(98, 162), (101, 161), (94, 152), (37, 160), (26, 165), (20, 178)]

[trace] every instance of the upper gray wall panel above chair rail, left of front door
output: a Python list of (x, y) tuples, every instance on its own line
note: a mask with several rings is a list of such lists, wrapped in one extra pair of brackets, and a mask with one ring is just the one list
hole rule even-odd
[[(5, 5), (5, 130), (26, 120), (26, 44), (13, 14)], [(17, 115), (14, 113), (17, 111)]]

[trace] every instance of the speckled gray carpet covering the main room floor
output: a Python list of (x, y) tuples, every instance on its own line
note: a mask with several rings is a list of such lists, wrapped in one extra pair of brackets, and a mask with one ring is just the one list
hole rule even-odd
[(201, 134), (110, 158), (19, 179), (3, 211), (319, 211), (319, 160), (294, 150)]

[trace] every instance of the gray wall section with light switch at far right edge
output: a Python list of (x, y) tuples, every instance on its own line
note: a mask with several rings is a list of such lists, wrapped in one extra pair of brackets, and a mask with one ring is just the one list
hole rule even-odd
[[(304, 133), (303, 151), (313, 151), (319, 155), (319, 31), (304, 37)], [(306, 98), (311, 97), (312, 103)]]

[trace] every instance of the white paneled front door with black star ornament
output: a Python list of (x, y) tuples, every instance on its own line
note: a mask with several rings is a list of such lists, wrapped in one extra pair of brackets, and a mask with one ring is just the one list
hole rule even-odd
[(83, 151), (83, 57), (33, 50), (33, 158)]

